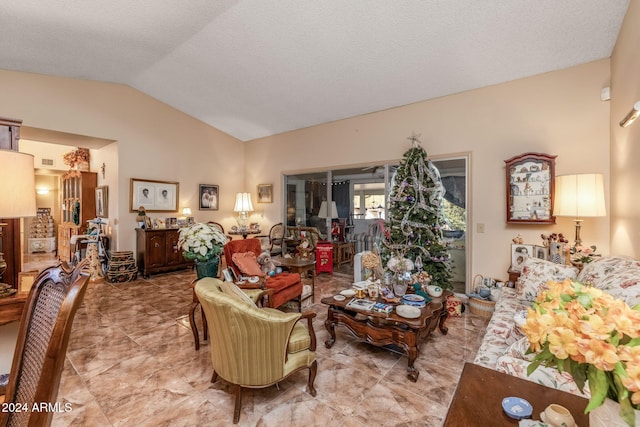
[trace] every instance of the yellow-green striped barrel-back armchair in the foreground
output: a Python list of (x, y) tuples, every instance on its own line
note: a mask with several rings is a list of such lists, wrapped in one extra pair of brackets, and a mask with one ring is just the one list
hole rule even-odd
[(308, 391), (316, 395), (315, 313), (258, 308), (233, 283), (210, 277), (200, 279), (195, 291), (211, 328), (211, 382), (221, 377), (233, 385), (234, 424), (244, 388), (268, 387), (308, 369)]

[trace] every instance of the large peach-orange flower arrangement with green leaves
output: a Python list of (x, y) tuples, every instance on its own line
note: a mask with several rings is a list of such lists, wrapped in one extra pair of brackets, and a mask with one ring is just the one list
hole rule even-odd
[(634, 409), (640, 409), (640, 304), (630, 308), (571, 280), (547, 286), (528, 309), (522, 328), (529, 353), (536, 353), (527, 374), (544, 364), (569, 372), (580, 390), (588, 380), (591, 399), (585, 412), (609, 398), (633, 426)]

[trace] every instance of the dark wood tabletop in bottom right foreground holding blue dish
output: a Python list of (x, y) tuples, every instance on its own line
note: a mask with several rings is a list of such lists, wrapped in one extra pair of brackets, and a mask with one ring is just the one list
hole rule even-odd
[(532, 419), (552, 403), (562, 405), (571, 412), (576, 425), (589, 425), (584, 409), (589, 401), (583, 397), (514, 377), (484, 366), (466, 363), (458, 387), (453, 395), (443, 426), (517, 426), (502, 410), (502, 399), (516, 396), (533, 406)]

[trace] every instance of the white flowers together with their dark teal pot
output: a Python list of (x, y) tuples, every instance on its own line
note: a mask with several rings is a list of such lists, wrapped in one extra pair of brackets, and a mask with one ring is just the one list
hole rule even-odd
[(227, 236), (215, 225), (196, 223), (180, 230), (178, 247), (185, 259), (195, 263), (198, 278), (215, 277), (227, 241)]

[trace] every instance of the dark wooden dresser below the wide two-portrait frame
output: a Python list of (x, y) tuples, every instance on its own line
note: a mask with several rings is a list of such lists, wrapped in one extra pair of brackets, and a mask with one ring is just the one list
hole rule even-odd
[(142, 277), (189, 267), (178, 248), (177, 228), (146, 230), (136, 228), (136, 262)]

